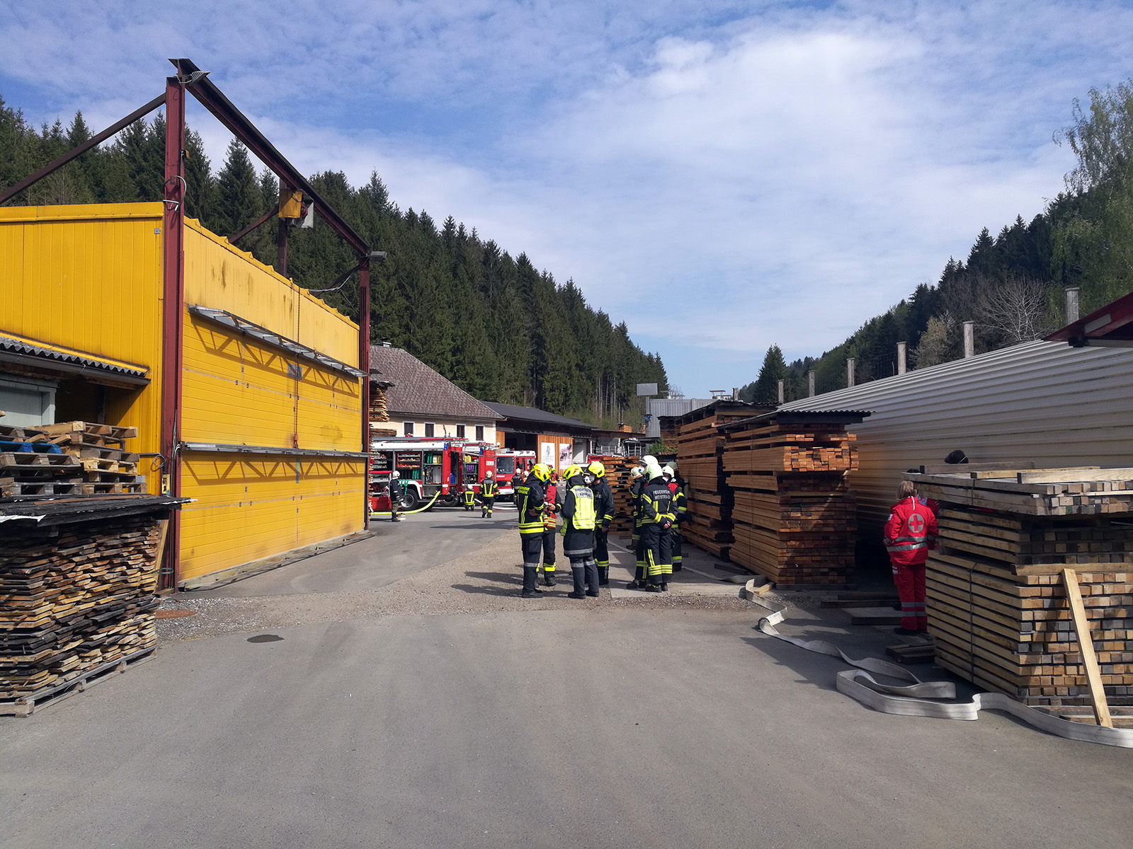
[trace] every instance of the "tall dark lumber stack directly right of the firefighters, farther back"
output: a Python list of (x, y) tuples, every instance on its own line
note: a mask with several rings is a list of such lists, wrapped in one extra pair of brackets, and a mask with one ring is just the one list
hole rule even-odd
[(716, 426), (748, 415), (713, 412), (682, 424), (676, 438), (678, 472), (688, 481), (681, 535), (717, 557), (726, 557), (732, 544), (732, 490), (721, 465), (724, 437)]

